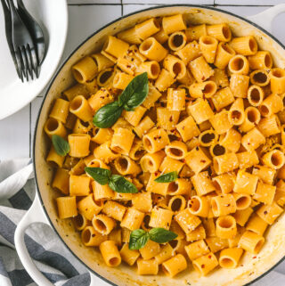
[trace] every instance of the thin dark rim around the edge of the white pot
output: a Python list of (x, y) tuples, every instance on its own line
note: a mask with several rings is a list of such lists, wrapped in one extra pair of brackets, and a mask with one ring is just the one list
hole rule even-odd
[[(61, 241), (63, 242), (63, 244), (65, 245), (65, 247), (67, 249), (69, 249), (70, 253), (73, 255), (73, 257), (75, 257), (78, 261), (80, 261), (80, 263), (82, 263), (91, 273), (93, 273), (94, 275), (96, 275), (98, 278), (102, 279), (102, 281), (110, 283), (110, 285), (113, 286), (118, 286), (118, 284), (115, 284), (114, 282), (111, 282), (110, 280), (108, 280), (107, 278), (103, 277), (101, 274), (97, 274), (96, 272), (94, 272), (94, 270), (92, 268), (90, 268), (89, 266), (87, 266), (85, 264), (85, 262), (80, 259), (79, 257), (77, 257), (77, 255), (69, 248), (68, 244), (62, 239), (61, 235), (57, 232), (56, 228), (53, 225), (53, 222), (51, 220), (51, 218), (48, 215), (48, 212), (46, 211), (45, 208), (45, 204), (44, 201), (42, 200), (42, 196), (41, 193), (39, 192), (39, 188), (38, 188), (38, 184), (37, 184), (37, 172), (36, 172), (36, 162), (35, 162), (35, 158), (36, 158), (36, 137), (37, 137), (37, 125), (38, 125), (38, 119), (40, 117), (40, 114), (42, 112), (44, 103), (45, 103), (45, 99), (47, 94), (49, 94), (51, 87), (53, 86), (53, 82), (54, 79), (57, 78), (57, 76), (59, 75), (59, 73), (61, 72), (61, 69), (63, 68), (63, 66), (67, 63), (67, 61), (69, 61), (70, 57), (77, 52), (77, 50), (84, 45), (91, 37), (94, 37), (94, 35), (96, 35), (97, 33), (99, 33), (100, 31), (102, 31), (102, 29), (107, 28), (108, 26), (110, 26), (111, 24), (114, 24), (116, 22), (118, 22), (119, 20), (123, 20), (129, 16), (135, 15), (137, 13), (140, 12), (145, 12), (145, 11), (151, 11), (151, 10), (155, 10), (155, 9), (162, 9), (162, 8), (168, 8), (168, 7), (191, 7), (191, 8), (201, 8), (201, 9), (208, 9), (208, 10), (213, 10), (213, 11), (217, 11), (217, 12), (224, 12), (225, 14), (229, 14), (233, 17), (239, 18), (240, 20), (244, 20), (246, 22), (248, 22), (248, 24), (256, 27), (257, 29), (260, 29), (261, 31), (263, 31), (266, 35), (268, 35), (269, 37), (273, 38), (273, 40), (278, 44), (281, 45), (281, 47), (285, 50), (285, 45), (283, 45), (281, 43), (280, 40), (278, 40), (276, 37), (274, 37), (270, 32), (268, 32), (267, 30), (263, 29), (262, 27), (260, 27), (259, 25), (257, 25), (255, 22), (248, 20), (247, 18), (241, 17), (240, 15), (236, 15), (232, 12), (228, 12), (228, 11), (224, 11), (222, 9), (216, 8), (216, 7), (212, 7), (212, 6), (208, 6), (208, 5), (198, 5), (198, 4), (168, 4), (168, 5), (157, 5), (154, 7), (150, 7), (150, 8), (146, 8), (146, 9), (142, 9), (139, 11), (135, 11), (135, 12), (130, 12), (126, 15), (120, 16), (115, 20), (110, 21), (109, 23), (107, 23), (106, 25), (102, 26), (102, 28), (97, 29), (96, 31), (94, 31), (94, 33), (92, 33), (89, 37), (86, 37), (85, 40), (83, 42), (81, 42), (79, 45), (77, 45), (77, 47), (75, 49), (73, 49), (73, 51), (71, 53), (69, 53), (69, 55), (66, 57), (66, 59), (61, 63), (61, 66), (56, 70), (55, 74), (53, 75), (53, 78), (51, 79), (50, 83), (48, 84), (48, 88), (46, 89), (45, 95), (43, 97), (43, 102), (41, 103), (40, 109), (38, 111), (37, 114), (37, 121), (36, 121), (36, 127), (35, 127), (35, 132), (33, 135), (33, 169), (34, 169), (34, 174), (35, 174), (35, 181), (36, 181), (36, 192), (38, 194), (38, 198), (41, 202), (41, 205), (45, 211), (45, 216), (47, 217), (47, 219), (50, 222), (50, 225), (52, 225), (53, 227), (53, 231), (57, 234), (57, 236), (61, 239)], [(256, 279), (254, 279), (251, 282), (248, 282), (247, 284), (244, 284), (243, 286), (249, 286), (252, 285), (254, 282), (258, 281), (259, 279), (265, 277), (265, 275), (269, 274), (276, 266), (280, 265), (282, 261), (285, 260), (285, 256), (281, 258), (280, 261), (278, 261), (274, 266), (272, 266), (270, 269), (268, 269), (264, 274), (259, 275), (258, 277), (256, 277)]]

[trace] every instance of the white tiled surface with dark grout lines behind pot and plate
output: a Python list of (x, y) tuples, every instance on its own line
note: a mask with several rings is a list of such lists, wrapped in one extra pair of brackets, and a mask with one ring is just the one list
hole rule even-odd
[[(268, 6), (285, 3), (285, 0), (68, 0), (68, 3), (69, 33), (61, 61), (64, 61), (85, 37), (111, 20), (154, 5), (207, 4), (240, 16), (249, 16), (264, 11)], [(285, 14), (282, 14), (273, 22), (273, 35), (283, 44), (285, 44), (284, 27)], [(0, 160), (31, 157), (37, 113), (44, 94), (45, 92), (39, 94), (33, 102), (11, 117), (0, 120)], [(281, 272), (281, 268), (284, 266), (278, 266), (276, 271)], [(259, 281), (254, 285), (263, 283)]]

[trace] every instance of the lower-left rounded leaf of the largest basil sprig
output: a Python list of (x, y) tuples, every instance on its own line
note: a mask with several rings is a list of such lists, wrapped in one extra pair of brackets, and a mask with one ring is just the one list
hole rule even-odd
[(94, 115), (94, 126), (100, 128), (112, 127), (122, 114), (122, 111), (123, 107), (119, 106), (118, 102), (110, 102), (102, 106)]

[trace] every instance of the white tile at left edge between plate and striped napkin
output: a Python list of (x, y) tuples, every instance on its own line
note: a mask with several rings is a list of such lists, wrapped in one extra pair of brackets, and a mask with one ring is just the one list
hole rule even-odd
[(29, 156), (29, 106), (0, 120), (0, 160)]

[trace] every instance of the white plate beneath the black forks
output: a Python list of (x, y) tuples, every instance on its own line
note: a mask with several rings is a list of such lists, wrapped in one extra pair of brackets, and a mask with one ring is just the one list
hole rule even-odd
[(0, 120), (31, 102), (49, 80), (61, 60), (68, 30), (66, 0), (24, 0), (28, 12), (42, 27), (47, 51), (36, 80), (22, 83), (18, 78), (6, 41), (4, 13), (0, 7)]

